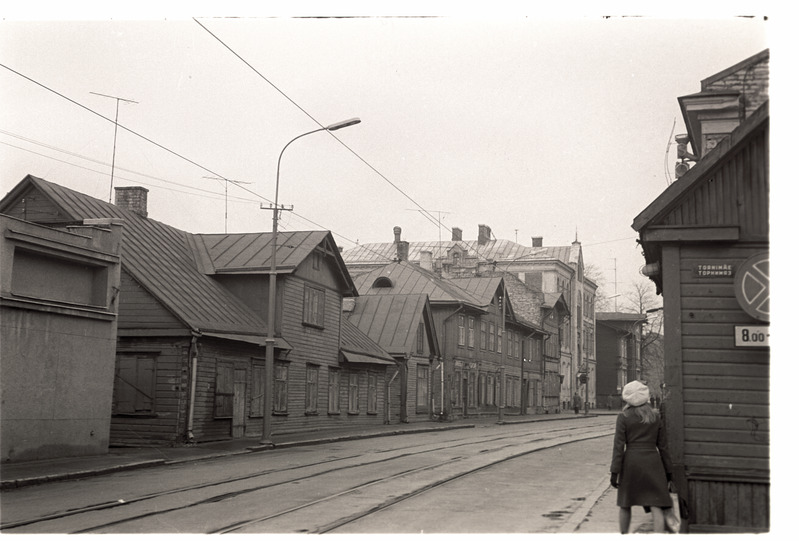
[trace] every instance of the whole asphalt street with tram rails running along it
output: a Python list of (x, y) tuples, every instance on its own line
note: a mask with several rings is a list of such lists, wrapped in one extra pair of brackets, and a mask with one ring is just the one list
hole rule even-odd
[(3, 533), (554, 533), (607, 484), (613, 428), (492, 423), (31, 486), (3, 493)]

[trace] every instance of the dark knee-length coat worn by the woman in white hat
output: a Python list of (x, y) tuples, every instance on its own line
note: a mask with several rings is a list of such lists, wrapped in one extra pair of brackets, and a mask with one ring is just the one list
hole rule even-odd
[(618, 415), (610, 472), (619, 474), (619, 507), (671, 507), (671, 458), (660, 418), (644, 424), (632, 408)]

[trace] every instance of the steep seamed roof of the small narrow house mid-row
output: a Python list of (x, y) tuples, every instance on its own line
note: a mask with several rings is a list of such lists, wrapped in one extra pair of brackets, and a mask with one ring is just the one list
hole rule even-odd
[[(361, 295), (348, 314), (350, 322), (394, 356), (416, 349), (416, 333), (425, 318), (432, 324), (427, 295)], [(432, 333), (432, 354), (438, 355), (438, 339)]]

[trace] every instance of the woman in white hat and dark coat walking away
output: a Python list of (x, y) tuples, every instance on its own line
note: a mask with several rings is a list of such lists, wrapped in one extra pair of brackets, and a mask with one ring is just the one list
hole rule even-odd
[(626, 403), (616, 418), (610, 464), (610, 484), (619, 489), (619, 529), (628, 533), (632, 506), (652, 511), (655, 533), (664, 531), (663, 510), (671, 507), (671, 458), (666, 431), (658, 412), (649, 404), (649, 388), (631, 381), (621, 393)]

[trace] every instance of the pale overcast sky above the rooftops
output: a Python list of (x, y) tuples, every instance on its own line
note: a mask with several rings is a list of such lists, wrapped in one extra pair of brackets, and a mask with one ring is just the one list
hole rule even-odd
[[(397, 225), (408, 241), (479, 224), (577, 238), (607, 295), (640, 280), (630, 225), (674, 180), (677, 98), (771, 30), (762, 15), (38, 18), (0, 22), (2, 195), (32, 174), (108, 200), (113, 158), (151, 218), (268, 231), (281, 149), (359, 117), (288, 147), (281, 229), (345, 250)], [(136, 102), (119, 102), (115, 154), (117, 100), (96, 94)], [(239, 182), (227, 204), (220, 176)]]

